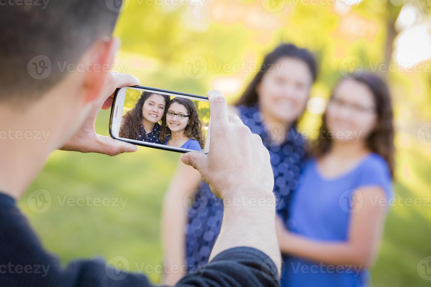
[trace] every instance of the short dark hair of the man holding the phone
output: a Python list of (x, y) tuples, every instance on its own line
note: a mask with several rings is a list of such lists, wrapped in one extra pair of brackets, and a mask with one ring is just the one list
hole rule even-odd
[[(30, 3), (1, 7), (0, 102), (39, 99), (68, 74), (62, 72), (67, 70), (62, 70), (64, 63), (76, 64), (95, 40), (112, 34), (118, 17), (105, 0)], [(34, 73), (48, 65), (47, 77)], [(18, 95), (25, 95), (25, 99), (18, 99)]]

